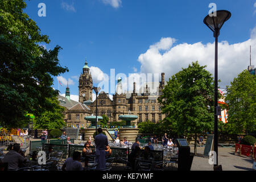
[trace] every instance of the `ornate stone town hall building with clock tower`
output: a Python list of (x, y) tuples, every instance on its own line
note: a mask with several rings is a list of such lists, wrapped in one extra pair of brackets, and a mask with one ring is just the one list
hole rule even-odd
[[(119, 78), (116, 92), (113, 94), (113, 100), (110, 99), (108, 93), (102, 91), (98, 94), (98, 115), (105, 114), (109, 117), (109, 122), (112, 122), (120, 121), (119, 115), (135, 114), (138, 115), (138, 119), (133, 121), (136, 126), (139, 122), (148, 120), (154, 123), (159, 122), (165, 117), (158, 102), (158, 97), (162, 94), (161, 91), (165, 84), (164, 73), (162, 73), (162, 80), (160, 82), (144, 83), (143, 92), (137, 93), (135, 91), (135, 82), (133, 92), (123, 92), (122, 80)], [(148, 85), (154, 85), (156, 92), (150, 92)], [(85, 61), (79, 77), (79, 102), (70, 99), (68, 86), (65, 97), (59, 96), (60, 105), (66, 107), (65, 122), (68, 127), (84, 127), (88, 124), (84, 117), (92, 114), (96, 115), (96, 100), (92, 101), (92, 92), (92, 75), (88, 63)]]

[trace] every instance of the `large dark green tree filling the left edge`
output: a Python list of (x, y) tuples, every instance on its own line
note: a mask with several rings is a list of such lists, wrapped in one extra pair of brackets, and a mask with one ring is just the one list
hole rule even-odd
[(0, 1), (0, 125), (20, 127), (25, 113), (52, 110), (47, 98), (56, 97), (52, 76), (68, 71), (59, 64), (56, 46), (47, 51), (47, 35), (23, 13), (25, 0)]

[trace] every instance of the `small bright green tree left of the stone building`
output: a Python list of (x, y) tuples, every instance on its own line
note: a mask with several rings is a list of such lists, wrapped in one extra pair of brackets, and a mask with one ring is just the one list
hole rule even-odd
[(59, 105), (57, 97), (47, 99), (53, 105), (53, 110), (44, 111), (35, 119), (36, 129), (61, 129), (64, 125), (64, 110), (63, 106)]

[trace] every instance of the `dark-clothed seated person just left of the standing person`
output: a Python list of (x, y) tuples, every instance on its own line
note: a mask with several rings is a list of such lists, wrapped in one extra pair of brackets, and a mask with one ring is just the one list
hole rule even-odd
[(65, 160), (61, 169), (63, 171), (82, 171), (84, 168), (82, 168), (80, 159), (81, 159), (81, 152), (75, 151), (73, 153), (73, 158), (68, 158), (67, 160)]

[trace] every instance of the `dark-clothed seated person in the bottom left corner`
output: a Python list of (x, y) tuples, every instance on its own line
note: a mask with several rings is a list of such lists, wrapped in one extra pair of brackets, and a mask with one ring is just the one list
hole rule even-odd
[(20, 151), (20, 145), (18, 143), (13, 145), (13, 150), (9, 151), (2, 159), (3, 163), (8, 163), (9, 170), (16, 170), (19, 167), (25, 167), (27, 159), (24, 153)]

